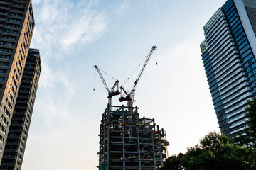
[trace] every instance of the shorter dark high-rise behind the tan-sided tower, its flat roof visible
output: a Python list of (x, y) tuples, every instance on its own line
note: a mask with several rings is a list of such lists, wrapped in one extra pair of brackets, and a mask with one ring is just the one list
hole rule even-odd
[(39, 50), (29, 49), (0, 169), (21, 169), (40, 72)]

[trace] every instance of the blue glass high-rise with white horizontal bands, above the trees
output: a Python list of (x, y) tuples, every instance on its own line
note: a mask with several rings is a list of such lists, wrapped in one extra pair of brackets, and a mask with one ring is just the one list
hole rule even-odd
[(203, 27), (203, 64), (220, 131), (245, 125), (247, 100), (256, 95), (256, 0), (228, 0)]

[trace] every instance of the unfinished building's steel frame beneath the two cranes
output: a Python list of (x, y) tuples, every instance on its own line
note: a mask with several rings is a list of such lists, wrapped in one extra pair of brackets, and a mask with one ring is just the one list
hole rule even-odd
[(108, 105), (100, 124), (99, 170), (157, 170), (169, 142), (154, 118), (139, 118), (138, 108)]

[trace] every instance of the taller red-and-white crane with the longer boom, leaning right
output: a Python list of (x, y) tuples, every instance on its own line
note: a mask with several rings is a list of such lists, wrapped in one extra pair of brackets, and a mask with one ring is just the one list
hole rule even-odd
[[(135, 89), (137, 87), (137, 84), (139, 82), (139, 79), (142, 77), (142, 73), (144, 72), (145, 68), (146, 68), (146, 64), (148, 64), (149, 59), (151, 57), (151, 55), (153, 54), (154, 50), (156, 50), (156, 45), (154, 45), (151, 50), (149, 51), (149, 54), (146, 55), (146, 60), (144, 61), (144, 64), (142, 66), (142, 69), (139, 71), (139, 74), (137, 76), (137, 79), (134, 81), (134, 84), (132, 86), (131, 91), (125, 91), (124, 87), (121, 86), (120, 87), (120, 91), (121, 91), (121, 97), (119, 98), (119, 101), (127, 101), (127, 106), (128, 107), (132, 107), (133, 103), (134, 103), (134, 96), (135, 96)], [(124, 94), (123, 94), (124, 93)]]

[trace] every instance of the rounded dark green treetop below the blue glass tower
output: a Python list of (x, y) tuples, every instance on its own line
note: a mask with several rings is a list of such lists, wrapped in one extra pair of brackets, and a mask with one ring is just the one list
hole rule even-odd
[(235, 145), (225, 135), (210, 132), (199, 145), (188, 148), (186, 154), (166, 159), (162, 170), (252, 170), (255, 169), (255, 157), (251, 147)]

